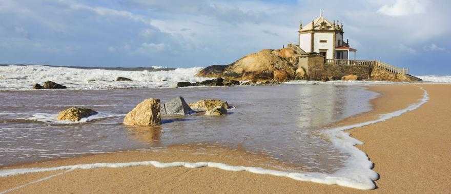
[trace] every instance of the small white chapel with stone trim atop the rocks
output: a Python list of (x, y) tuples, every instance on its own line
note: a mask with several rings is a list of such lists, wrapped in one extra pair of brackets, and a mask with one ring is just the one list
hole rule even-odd
[[(319, 53), (326, 59), (356, 58), (356, 49), (343, 38), (343, 23), (330, 22), (320, 16), (307, 25), (299, 25), (299, 47), (306, 53)], [(353, 52), (354, 55), (350, 53)]]

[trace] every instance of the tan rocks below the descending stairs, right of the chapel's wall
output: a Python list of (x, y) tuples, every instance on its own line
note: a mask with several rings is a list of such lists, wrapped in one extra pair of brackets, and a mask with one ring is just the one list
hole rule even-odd
[(421, 81), (421, 79), (407, 75), (407, 74), (395, 74), (394, 72), (387, 71), (383, 68), (374, 66), (371, 70), (371, 80), (374, 81), (391, 81), (391, 82), (412, 82)]

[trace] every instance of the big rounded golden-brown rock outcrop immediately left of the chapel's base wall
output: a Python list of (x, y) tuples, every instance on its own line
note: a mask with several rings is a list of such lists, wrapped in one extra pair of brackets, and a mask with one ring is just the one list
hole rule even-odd
[[(283, 57), (279, 57), (279, 55)], [(286, 50), (265, 49), (258, 53), (247, 55), (230, 65), (213, 65), (202, 69), (197, 76), (199, 77), (222, 77), (229, 80), (254, 80), (266, 81), (273, 80), (275, 76), (280, 79), (280, 71), (286, 72), (286, 80), (296, 78), (296, 62), (291, 60), (296, 58), (291, 52), (291, 48)]]

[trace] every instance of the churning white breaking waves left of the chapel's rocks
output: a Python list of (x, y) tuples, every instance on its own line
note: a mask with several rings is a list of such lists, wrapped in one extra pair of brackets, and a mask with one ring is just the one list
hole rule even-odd
[[(156, 68), (156, 67), (154, 67)], [(158, 67), (160, 68), (160, 67)], [(162, 67), (161, 67), (162, 68)], [(0, 66), (0, 90), (30, 90), (35, 83), (48, 80), (65, 85), (68, 89), (126, 89), (170, 87), (177, 82), (199, 82), (195, 77), (203, 67), (175, 70), (107, 70), (45, 65)], [(114, 81), (126, 77), (133, 81)]]

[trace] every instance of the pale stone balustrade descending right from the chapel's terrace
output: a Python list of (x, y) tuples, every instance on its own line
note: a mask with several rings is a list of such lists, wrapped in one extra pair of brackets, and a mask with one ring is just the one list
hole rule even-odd
[(395, 74), (409, 74), (408, 68), (398, 68), (393, 65), (381, 61), (367, 61), (367, 60), (344, 60), (344, 59), (326, 59), (325, 64), (329, 65), (364, 65), (364, 66), (376, 66), (386, 71), (393, 72)]

